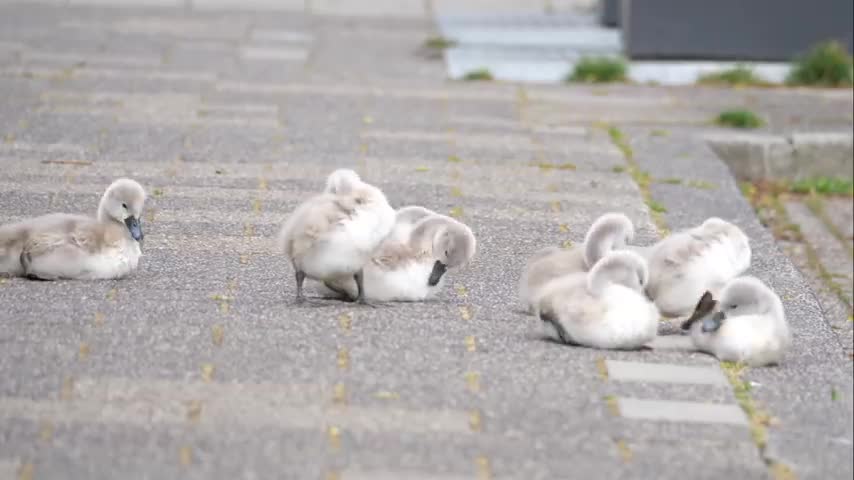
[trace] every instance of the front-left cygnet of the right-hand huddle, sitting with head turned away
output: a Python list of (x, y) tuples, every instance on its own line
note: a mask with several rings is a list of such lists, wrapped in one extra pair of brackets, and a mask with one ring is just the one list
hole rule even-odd
[(658, 309), (644, 294), (644, 259), (613, 251), (590, 272), (552, 280), (537, 298), (541, 320), (561, 341), (607, 349), (637, 349), (658, 333)]

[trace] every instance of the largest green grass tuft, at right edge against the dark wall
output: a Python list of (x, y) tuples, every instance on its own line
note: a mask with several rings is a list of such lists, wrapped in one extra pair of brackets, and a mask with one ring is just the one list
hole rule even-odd
[(786, 83), (850, 87), (854, 84), (854, 61), (841, 43), (835, 41), (821, 43), (793, 62)]

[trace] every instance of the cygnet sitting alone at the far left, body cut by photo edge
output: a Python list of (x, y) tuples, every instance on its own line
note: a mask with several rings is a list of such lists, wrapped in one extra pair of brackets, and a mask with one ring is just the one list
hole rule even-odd
[(40, 280), (122, 278), (142, 255), (145, 190), (113, 182), (97, 218), (55, 213), (0, 227), (0, 275)]

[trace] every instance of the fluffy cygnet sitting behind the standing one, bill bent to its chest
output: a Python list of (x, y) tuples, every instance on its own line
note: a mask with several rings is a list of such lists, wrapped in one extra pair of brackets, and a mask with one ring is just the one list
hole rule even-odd
[[(415, 302), (431, 298), (444, 286), (445, 272), (467, 264), (477, 248), (467, 225), (439, 214), (422, 218), (407, 237), (406, 242), (389, 237), (365, 265), (365, 289), (370, 300)], [(356, 285), (348, 278), (327, 281), (325, 286), (349, 298), (356, 294)]]

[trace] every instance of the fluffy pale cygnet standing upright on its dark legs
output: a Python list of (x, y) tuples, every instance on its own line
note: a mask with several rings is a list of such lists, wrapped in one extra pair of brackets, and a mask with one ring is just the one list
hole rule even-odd
[(297, 303), (305, 299), (306, 277), (352, 278), (355, 300), (366, 303), (362, 267), (391, 232), (394, 215), (383, 192), (356, 172), (332, 172), (324, 193), (297, 207), (279, 233), (279, 247), (294, 267)]

